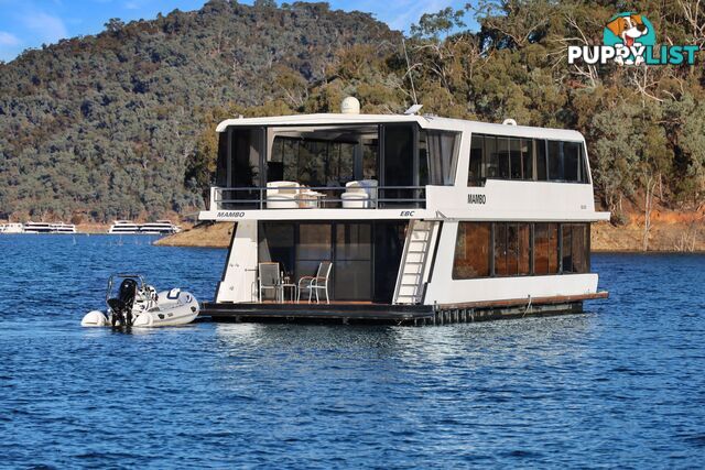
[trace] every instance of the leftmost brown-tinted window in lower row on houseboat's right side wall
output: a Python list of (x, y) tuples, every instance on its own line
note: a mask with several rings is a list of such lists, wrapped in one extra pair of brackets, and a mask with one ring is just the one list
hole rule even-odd
[(453, 278), (487, 277), (489, 272), (490, 223), (459, 222), (453, 259)]

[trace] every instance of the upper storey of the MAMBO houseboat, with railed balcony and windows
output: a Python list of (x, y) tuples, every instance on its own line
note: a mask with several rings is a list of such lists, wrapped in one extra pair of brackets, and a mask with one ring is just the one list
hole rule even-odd
[(583, 220), (596, 212), (576, 131), (429, 116), (302, 114), (218, 128), (203, 220)]

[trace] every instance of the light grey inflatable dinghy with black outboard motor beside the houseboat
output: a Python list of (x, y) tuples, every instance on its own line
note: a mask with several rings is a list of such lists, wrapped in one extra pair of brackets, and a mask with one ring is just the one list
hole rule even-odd
[[(116, 296), (112, 286), (120, 281)], [(107, 315), (99, 310), (86, 314), (84, 327), (154, 328), (187, 325), (199, 311), (198, 300), (180, 288), (156, 293), (140, 274), (113, 274), (108, 280)]]

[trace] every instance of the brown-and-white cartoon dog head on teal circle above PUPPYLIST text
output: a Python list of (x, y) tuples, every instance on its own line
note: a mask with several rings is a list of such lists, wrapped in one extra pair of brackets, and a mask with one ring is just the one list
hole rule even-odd
[[(623, 47), (630, 52), (629, 54), (618, 53), (615, 57), (616, 63), (639, 65), (644, 62), (642, 51), (646, 46), (653, 47), (655, 45), (657, 35), (647, 17), (627, 12), (616, 14), (609, 20), (603, 33), (603, 42), (607, 46), (617, 50)], [(640, 53), (634, 54), (634, 51)]]

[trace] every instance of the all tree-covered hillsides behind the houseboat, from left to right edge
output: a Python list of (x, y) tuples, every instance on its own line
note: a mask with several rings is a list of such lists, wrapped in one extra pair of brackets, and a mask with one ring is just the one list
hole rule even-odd
[[(481, 1), (426, 14), (402, 36), (326, 4), (210, 1), (0, 68), (0, 211), (134, 217), (203, 205), (226, 117), (424, 112), (577, 129), (615, 223), (637, 208), (702, 209), (705, 67), (568, 65), (619, 11), (658, 43), (705, 45), (705, 7), (679, 2)], [(477, 32), (464, 20), (475, 15)], [(627, 204), (625, 204), (627, 203)], [(633, 210), (633, 209), (632, 209)], [(649, 223), (644, 223), (644, 243)]]

